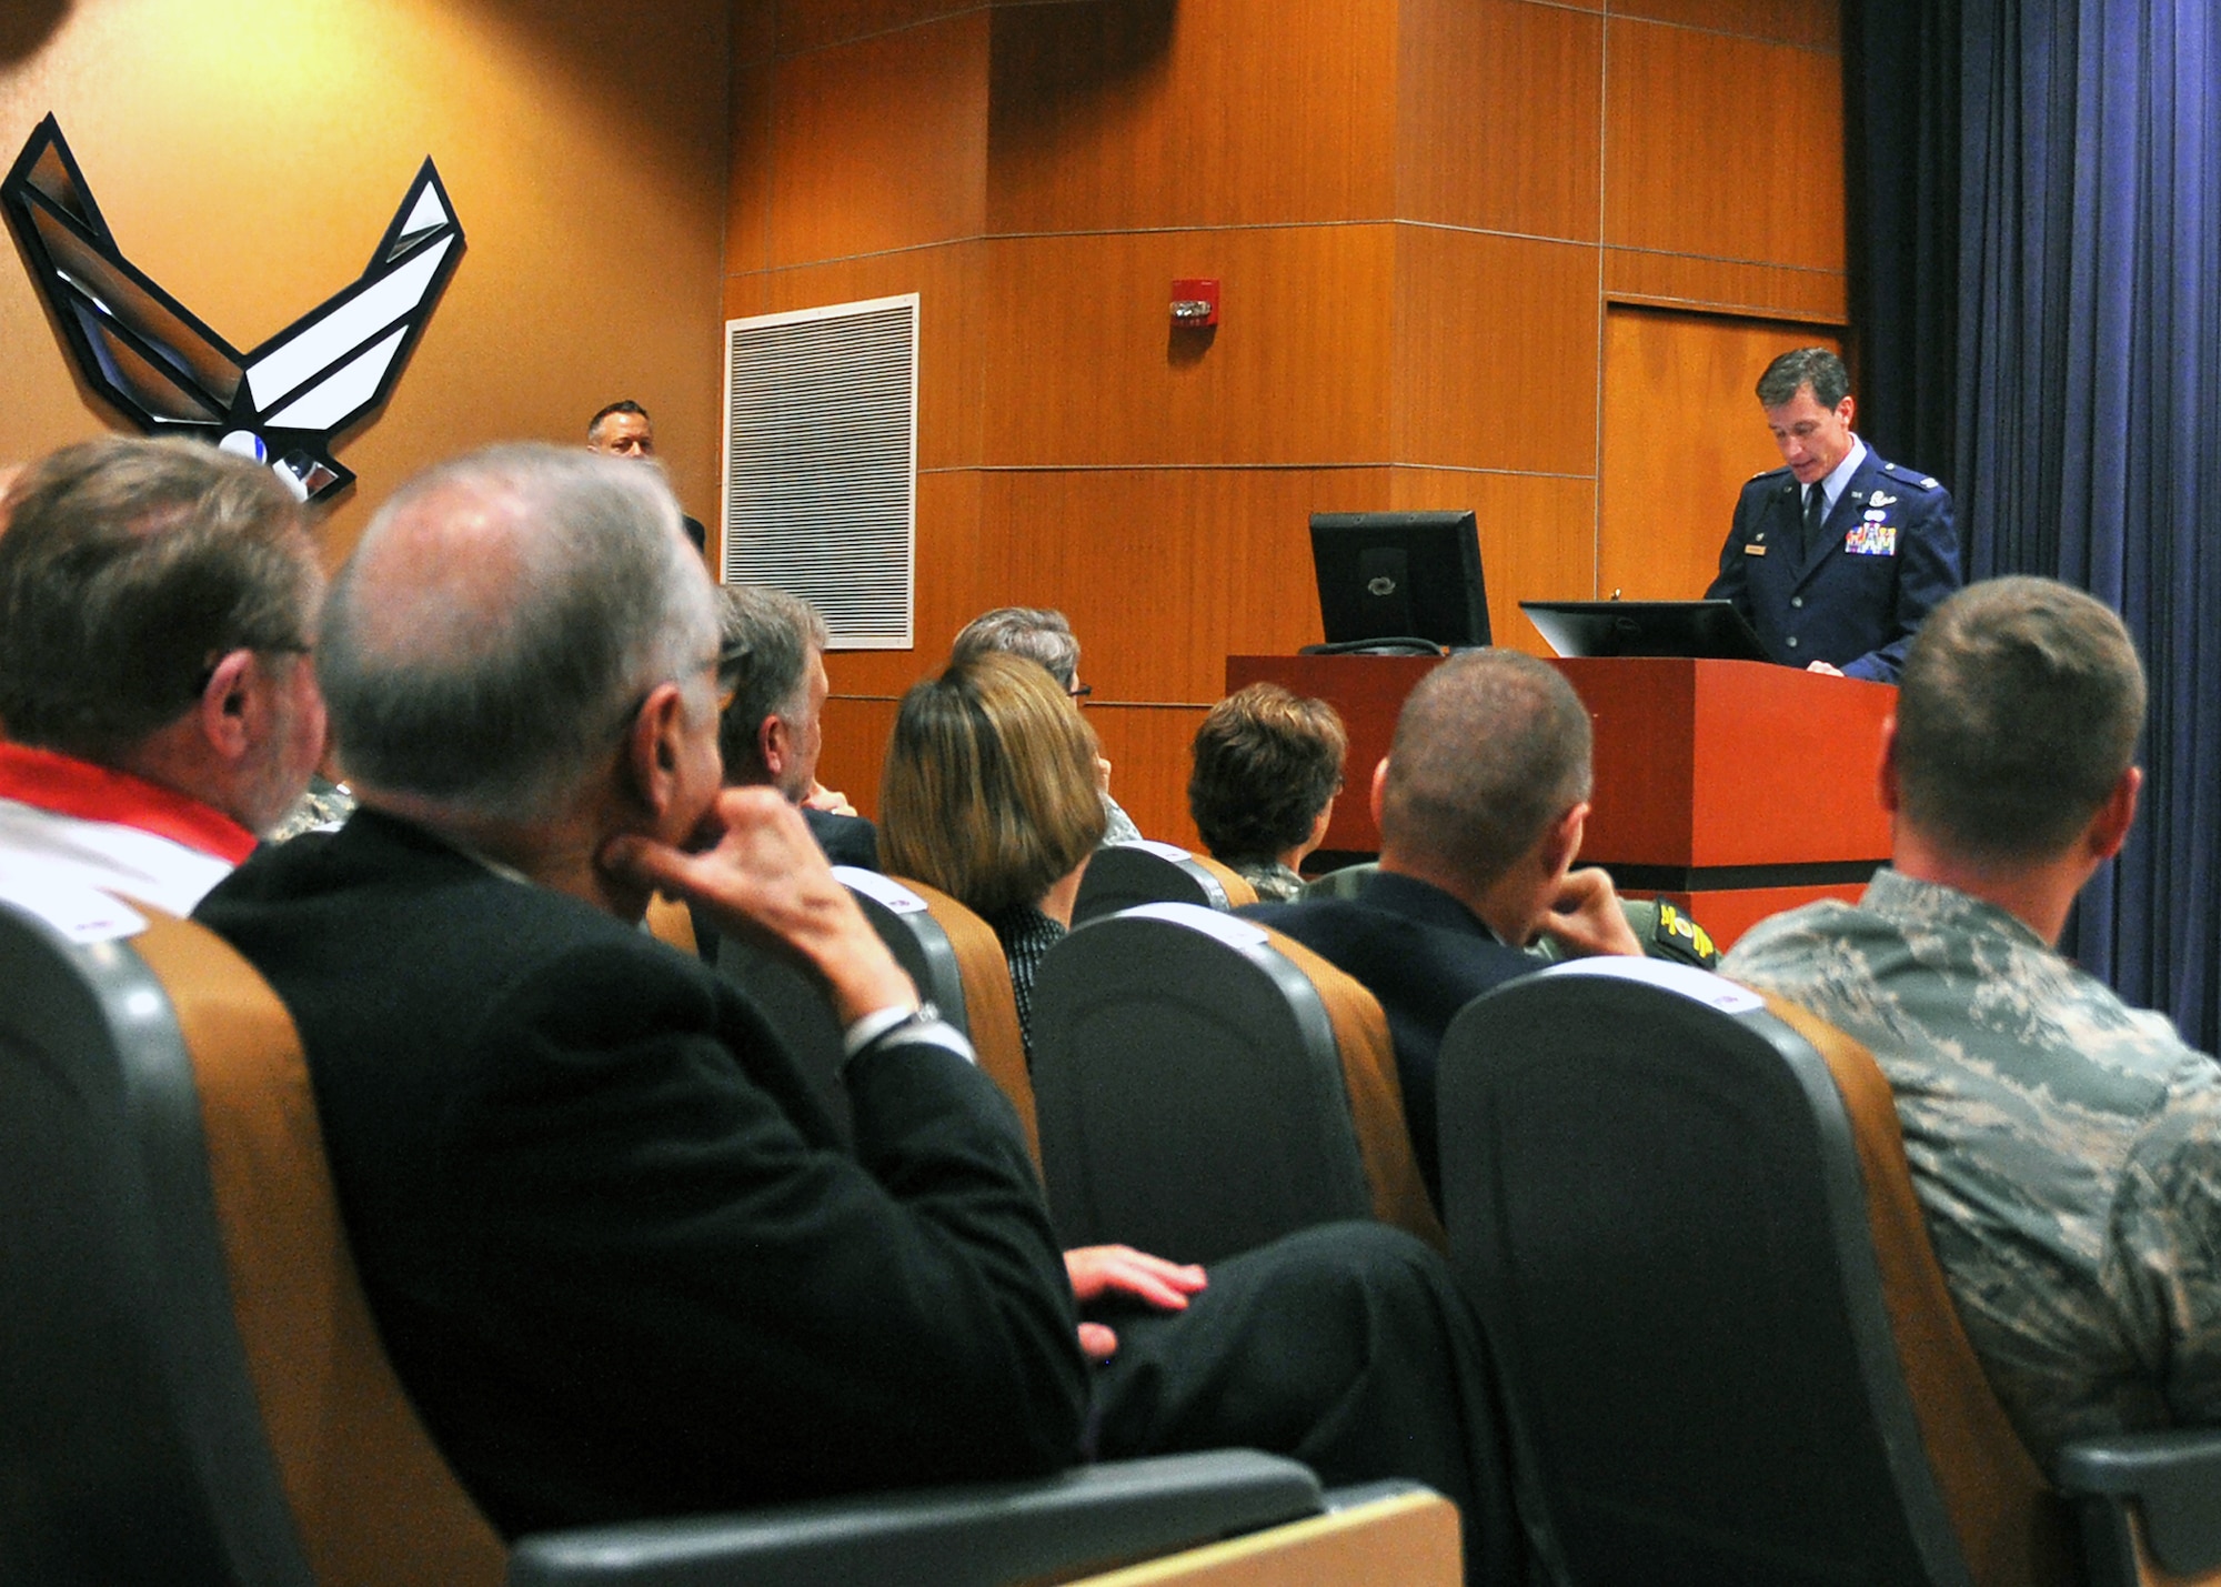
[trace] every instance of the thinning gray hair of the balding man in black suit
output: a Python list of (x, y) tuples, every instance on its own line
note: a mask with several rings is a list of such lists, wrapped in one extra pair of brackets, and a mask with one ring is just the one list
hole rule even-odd
[(349, 776), (529, 820), (615, 753), (655, 685), (715, 711), (715, 651), (713, 587), (662, 478), (517, 445), (420, 473), (371, 518), (331, 589), (318, 680)]

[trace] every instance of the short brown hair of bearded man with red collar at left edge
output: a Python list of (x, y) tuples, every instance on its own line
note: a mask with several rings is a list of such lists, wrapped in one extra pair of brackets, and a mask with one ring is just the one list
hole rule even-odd
[(0, 725), (115, 760), (184, 716), (233, 649), (306, 651), (324, 576), (293, 493), (193, 440), (64, 447), (0, 533)]

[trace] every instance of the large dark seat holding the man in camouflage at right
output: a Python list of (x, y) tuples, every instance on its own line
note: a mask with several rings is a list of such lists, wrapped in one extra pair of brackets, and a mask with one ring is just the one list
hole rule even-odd
[(2139, 1538), (2179, 1571), (2143, 1580), (2221, 1567), (2221, 1431), (2161, 1436), (2157, 1474), (2145, 1440), (2079, 1445), (2077, 1549), (1959, 1327), (1888, 1082), (1810, 1014), (1564, 965), (1457, 1016), (1439, 1100), (1450, 1258), (1575, 1583), (2110, 1587)]

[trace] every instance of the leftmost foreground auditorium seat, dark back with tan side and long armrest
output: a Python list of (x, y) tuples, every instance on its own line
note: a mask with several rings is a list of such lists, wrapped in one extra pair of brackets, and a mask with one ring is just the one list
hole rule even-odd
[[(1168, 1549), (1208, 1565), (1193, 1545), (1259, 1527), (1248, 1547), (1364, 1578), (1333, 1565), (1313, 1474), (1250, 1451), (511, 1549), (386, 1365), (262, 978), (193, 922), (73, 945), (0, 905), (0, 1580), (993, 1587)], [(1421, 1549), (1444, 1509), (1401, 1491), (1348, 1525)], [(1430, 1558), (1448, 1587), (1455, 1547)]]

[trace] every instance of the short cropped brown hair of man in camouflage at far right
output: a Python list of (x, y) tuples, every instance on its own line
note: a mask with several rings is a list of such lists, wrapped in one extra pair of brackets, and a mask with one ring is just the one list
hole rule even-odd
[(1906, 651), (1903, 816), (1966, 858), (2050, 858), (2119, 787), (2139, 731), (2143, 667), (2103, 602), (2050, 578), (1968, 585)]

